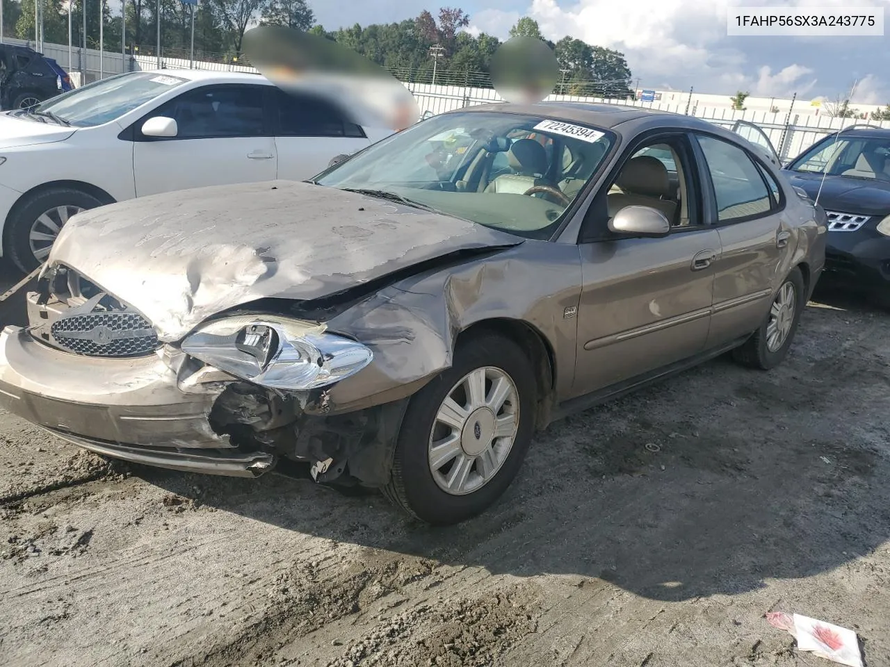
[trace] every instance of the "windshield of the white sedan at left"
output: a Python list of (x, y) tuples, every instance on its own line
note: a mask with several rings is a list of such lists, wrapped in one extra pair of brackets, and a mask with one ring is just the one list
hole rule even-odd
[(16, 111), (15, 115), (44, 112), (69, 125), (93, 127), (109, 123), (185, 81), (178, 76), (151, 72), (118, 74), (53, 97), (36, 107)]

